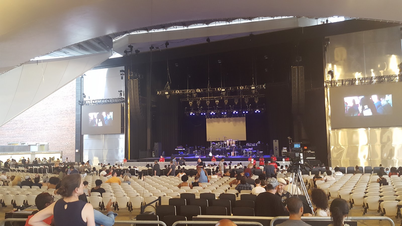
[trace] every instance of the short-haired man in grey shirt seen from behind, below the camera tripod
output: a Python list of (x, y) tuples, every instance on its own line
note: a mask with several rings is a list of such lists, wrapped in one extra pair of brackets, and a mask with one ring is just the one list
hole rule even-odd
[(286, 209), (289, 211), (289, 220), (283, 222), (282, 224), (277, 224), (277, 226), (308, 226), (310, 224), (304, 223), (301, 220), (303, 215), (303, 202), (297, 196), (290, 197), (287, 200), (288, 205)]

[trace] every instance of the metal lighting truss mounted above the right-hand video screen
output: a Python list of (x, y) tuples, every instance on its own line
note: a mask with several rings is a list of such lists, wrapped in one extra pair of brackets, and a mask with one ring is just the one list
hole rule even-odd
[(383, 75), (383, 76), (373, 76), (373, 77), (363, 77), (363, 78), (347, 78), (340, 80), (330, 80), (325, 81), (325, 87), (336, 87), (336, 86), (352, 86), (361, 84), (377, 84), (383, 82), (400, 82), (400, 76), (398, 74), (393, 75)]

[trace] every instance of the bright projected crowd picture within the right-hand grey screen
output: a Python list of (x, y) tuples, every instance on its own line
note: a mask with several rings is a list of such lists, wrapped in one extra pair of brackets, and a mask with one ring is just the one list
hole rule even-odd
[(390, 115), (392, 95), (345, 97), (345, 116)]

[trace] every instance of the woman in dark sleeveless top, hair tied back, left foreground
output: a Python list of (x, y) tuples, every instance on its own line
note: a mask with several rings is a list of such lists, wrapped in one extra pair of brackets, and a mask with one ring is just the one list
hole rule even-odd
[(43, 220), (54, 215), (55, 225), (95, 225), (92, 205), (78, 199), (78, 196), (84, 193), (83, 188), (84, 184), (79, 174), (66, 176), (57, 191), (64, 198), (39, 211), (29, 220), (29, 224), (42, 226)]

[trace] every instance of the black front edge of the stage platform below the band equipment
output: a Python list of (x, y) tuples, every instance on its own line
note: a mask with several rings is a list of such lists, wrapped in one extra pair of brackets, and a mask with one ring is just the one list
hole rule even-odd
[[(187, 157), (187, 155), (172, 155), (172, 156), (166, 156), (165, 157), (165, 162), (168, 162), (170, 160), (172, 160), (174, 157), (176, 157), (176, 160), (178, 158), (185, 158), (185, 160), (187, 162), (197, 162), (198, 158), (201, 158), (201, 161), (203, 162), (210, 162), (211, 161), (211, 157), (195, 157), (195, 156), (191, 156), (191, 157)], [(215, 156), (216, 161), (219, 162), (221, 160), (223, 156)], [(264, 159), (265, 160), (270, 160), (271, 156), (269, 155), (265, 155)], [(259, 157), (255, 157), (254, 158), (256, 161), (258, 161), (260, 158)], [(277, 157), (277, 161), (283, 161), (284, 157)], [(141, 158), (139, 160), (127, 160), (127, 162), (153, 162), (154, 160), (159, 160), (159, 158)], [(229, 156), (229, 157), (225, 157), (225, 162), (246, 162), (248, 161), (248, 157), (244, 157), (244, 156)]]

